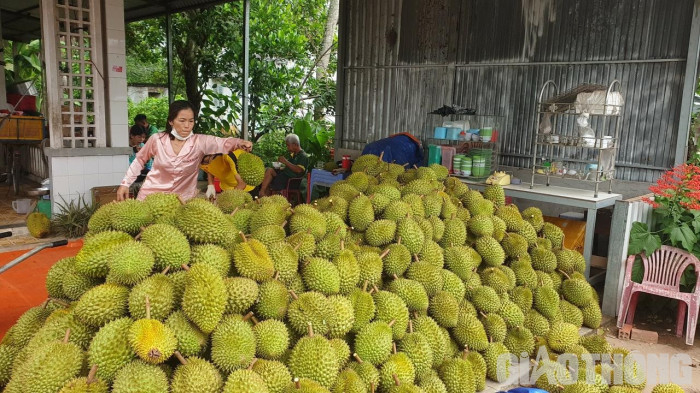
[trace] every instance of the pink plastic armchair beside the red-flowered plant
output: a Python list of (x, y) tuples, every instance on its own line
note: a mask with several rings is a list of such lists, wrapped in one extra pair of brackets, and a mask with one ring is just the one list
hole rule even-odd
[[(683, 322), (686, 309), (688, 311), (688, 330), (685, 335), (685, 343), (693, 345), (695, 339), (695, 327), (698, 322), (698, 304), (700, 304), (700, 260), (694, 255), (679, 248), (661, 246), (651, 256), (643, 253), (644, 277), (641, 283), (632, 281), (632, 266), (635, 255), (627, 258), (625, 271), (625, 283), (622, 288), (620, 300), (620, 313), (617, 317), (617, 327), (632, 324), (634, 312), (640, 292), (663, 296), (670, 299), (678, 299), (678, 314), (676, 315), (676, 336), (683, 335)], [(693, 265), (697, 276), (695, 292), (680, 292), (681, 275), (688, 267)]]

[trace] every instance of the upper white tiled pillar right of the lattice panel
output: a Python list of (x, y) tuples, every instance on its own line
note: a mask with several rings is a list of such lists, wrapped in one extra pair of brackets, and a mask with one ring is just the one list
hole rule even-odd
[(126, 40), (124, 37), (124, 0), (105, 0), (105, 87), (108, 143), (111, 147), (129, 146), (126, 94)]

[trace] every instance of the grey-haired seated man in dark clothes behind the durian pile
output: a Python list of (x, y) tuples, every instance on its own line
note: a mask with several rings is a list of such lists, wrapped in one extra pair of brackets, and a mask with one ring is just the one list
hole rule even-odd
[(287, 188), (289, 179), (300, 178), (306, 174), (309, 166), (309, 156), (301, 149), (299, 137), (289, 134), (284, 138), (287, 144), (288, 154), (280, 156), (278, 161), (282, 163), (284, 169), (268, 168), (265, 178), (260, 185), (260, 196), (269, 196), (271, 191), (279, 191)]

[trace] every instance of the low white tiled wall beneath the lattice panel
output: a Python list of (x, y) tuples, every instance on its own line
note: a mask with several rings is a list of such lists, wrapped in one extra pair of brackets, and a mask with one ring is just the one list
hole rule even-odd
[(91, 189), (119, 185), (128, 167), (128, 155), (51, 157), (53, 211), (59, 210), (56, 203), (69, 202), (80, 196), (92, 203)]

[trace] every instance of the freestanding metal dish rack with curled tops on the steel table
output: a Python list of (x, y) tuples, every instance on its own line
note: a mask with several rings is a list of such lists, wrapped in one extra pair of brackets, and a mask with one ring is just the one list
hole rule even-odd
[[(550, 184), (550, 178), (565, 178), (593, 183), (595, 185), (594, 198), (598, 197), (600, 183), (607, 181), (608, 193), (612, 193), (624, 104), (609, 104), (609, 98), (612, 92), (619, 92), (620, 82), (613, 80), (608, 85), (604, 104), (583, 104), (590, 111), (588, 112), (590, 115), (589, 125), (595, 131), (595, 138), (582, 138), (578, 135), (573, 124), (576, 117), (580, 116), (583, 111), (578, 110), (577, 104), (574, 102), (552, 102), (551, 98), (545, 100), (544, 95), (549, 90), (554, 90), (553, 97), (556, 98), (559, 95), (559, 88), (553, 80), (545, 82), (537, 96), (530, 188), (534, 187), (536, 176), (545, 176), (547, 186)], [(549, 134), (539, 133), (539, 125), (545, 115), (551, 116), (552, 132)], [(590, 139), (594, 139), (592, 145)], [(602, 153), (606, 151), (610, 152), (610, 160), (612, 161), (608, 170), (604, 170), (601, 161)], [(551, 166), (543, 165), (545, 159), (549, 159), (550, 162), (559, 161), (566, 164), (567, 174), (552, 173)], [(589, 164), (597, 164), (596, 169), (588, 169)], [(568, 174), (571, 169), (576, 173)]]

